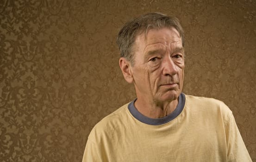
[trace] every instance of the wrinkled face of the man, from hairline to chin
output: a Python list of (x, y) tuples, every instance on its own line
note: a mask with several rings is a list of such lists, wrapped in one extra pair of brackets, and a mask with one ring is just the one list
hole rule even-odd
[(184, 75), (184, 49), (175, 28), (151, 29), (138, 35), (131, 67), (137, 98), (156, 102), (176, 100)]

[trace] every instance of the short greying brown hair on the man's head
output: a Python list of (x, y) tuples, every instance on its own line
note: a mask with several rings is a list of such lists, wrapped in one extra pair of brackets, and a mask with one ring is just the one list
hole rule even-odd
[(125, 57), (133, 65), (133, 52), (132, 47), (135, 42), (135, 38), (144, 33), (145, 37), (150, 29), (174, 27), (180, 34), (182, 46), (184, 47), (184, 31), (181, 27), (179, 19), (176, 17), (167, 16), (162, 13), (152, 12), (143, 14), (131, 21), (125, 23), (122, 29), (118, 33), (117, 44), (121, 52), (121, 57)]

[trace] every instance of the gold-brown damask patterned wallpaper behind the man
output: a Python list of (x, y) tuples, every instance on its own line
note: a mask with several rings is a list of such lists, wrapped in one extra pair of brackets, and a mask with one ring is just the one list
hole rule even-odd
[(0, 0), (0, 162), (81, 162), (93, 126), (135, 98), (115, 37), (145, 12), (181, 20), (184, 92), (223, 100), (256, 162), (255, 0)]

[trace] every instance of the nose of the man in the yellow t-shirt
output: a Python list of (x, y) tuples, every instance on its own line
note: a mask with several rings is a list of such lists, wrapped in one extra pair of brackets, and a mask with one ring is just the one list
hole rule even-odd
[(163, 75), (175, 75), (178, 72), (178, 67), (171, 57), (168, 57), (162, 62), (162, 73)]

